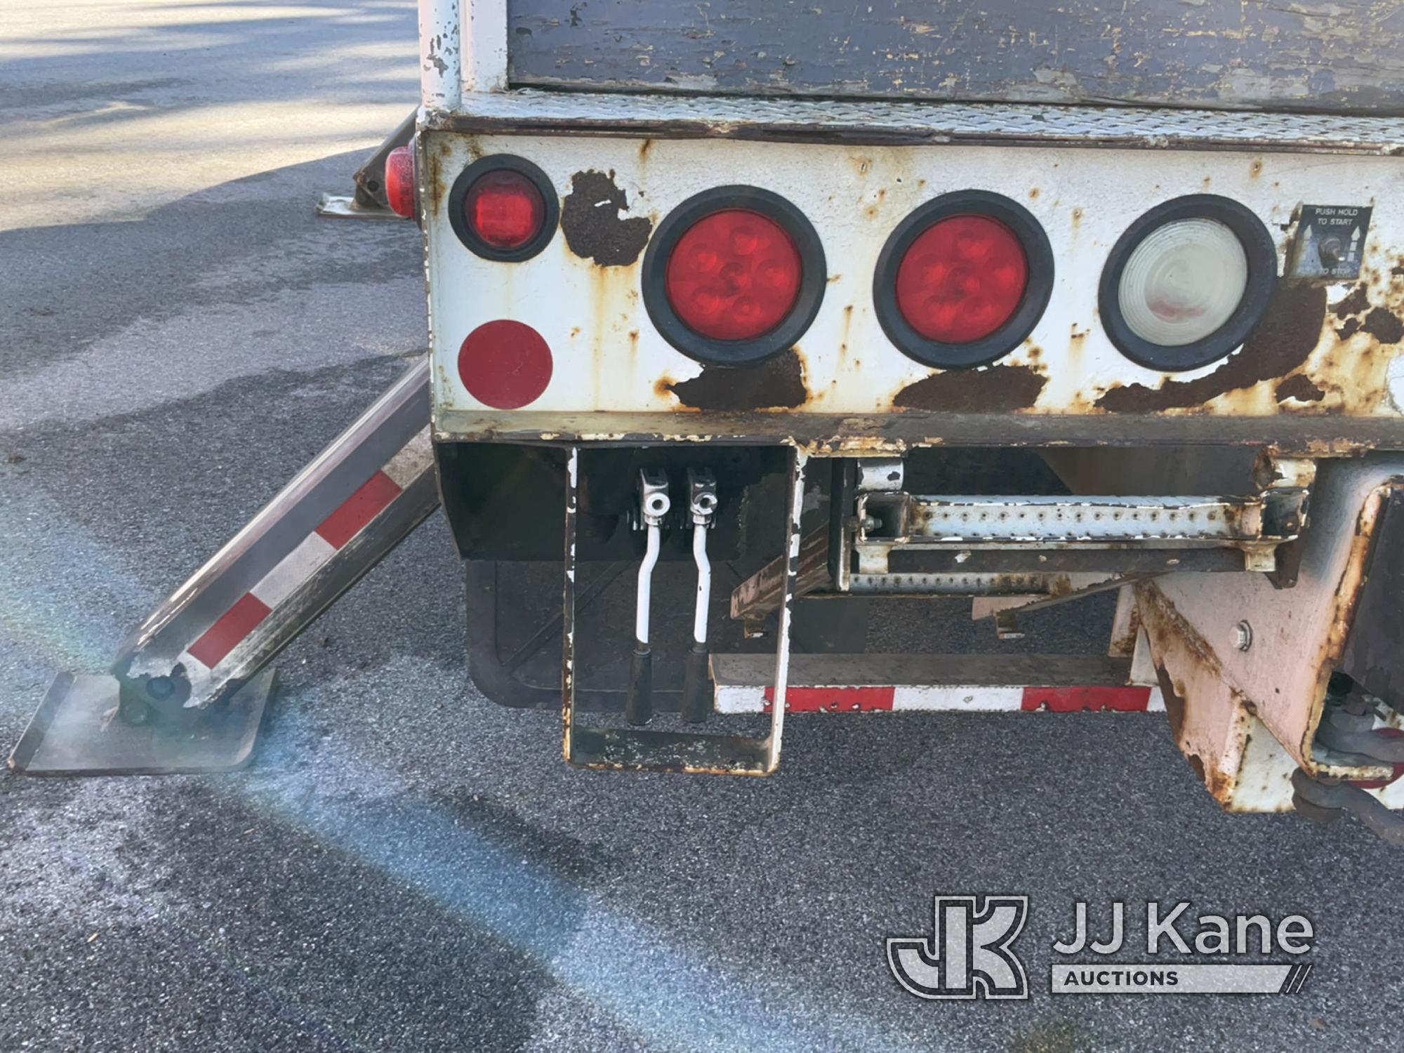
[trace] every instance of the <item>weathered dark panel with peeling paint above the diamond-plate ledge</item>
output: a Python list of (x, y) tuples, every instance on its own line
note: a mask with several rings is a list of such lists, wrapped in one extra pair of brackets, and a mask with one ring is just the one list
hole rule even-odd
[(1337, 112), (1404, 107), (1393, 3), (510, 0), (512, 84)]

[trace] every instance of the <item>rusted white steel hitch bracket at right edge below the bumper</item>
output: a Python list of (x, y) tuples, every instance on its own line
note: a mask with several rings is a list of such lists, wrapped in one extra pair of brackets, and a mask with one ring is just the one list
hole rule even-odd
[[(1290, 493), (1306, 482), (1285, 477), (1278, 486), (1296, 500)], [(1297, 768), (1360, 782), (1386, 807), (1404, 804), (1390, 739), (1400, 715), (1362, 710), (1341, 727), (1332, 699), (1342, 689), (1331, 687), (1335, 674), (1351, 671), (1346, 644), (1367, 609), (1362, 595), (1380, 578), (1382, 549), (1390, 549), (1384, 510), (1401, 490), (1398, 455), (1323, 462), (1290, 590), (1275, 588), (1268, 574), (1177, 573), (1137, 585), (1172, 734), (1224, 807), (1290, 807)], [(1394, 556), (1386, 550), (1384, 559)], [(1390, 600), (1397, 605), (1397, 595)]]

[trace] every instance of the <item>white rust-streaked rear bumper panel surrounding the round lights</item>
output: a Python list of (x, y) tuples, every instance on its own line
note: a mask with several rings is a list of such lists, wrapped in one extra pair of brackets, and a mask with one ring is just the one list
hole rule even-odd
[[(444, 438), (741, 441), (885, 453), (932, 442), (1238, 441), (1307, 452), (1404, 435), (1404, 201), (1398, 161), (1059, 147), (844, 145), (424, 133), (434, 420)], [(564, 227), (538, 257), (501, 264), (449, 230), (446, 187), (475, 157), (539, 164)], [(823, 178), (814, 178), (823, 173)], [(775, 188), (814, 223), (830, 260), (819, 314), (755, 366), (702, 366), (643, 307), (650, 225), (719, 178)], [(882, 333), (870, 285), (892, 227), (955, 187), (1001, 192), (1047, 232), (1057, 281), (1033, 333), (995, 365), (934, 371)], [(1302, 201), (1373, 201), (1362, 278), (1282, 281), (1258, 331), (1227, 359), (1168, 373), (1125, 358), (1098, 324), (1108, 247), (1150, 204), (1209, 190), (1243, 201), (1279, 256)], [(587, 218), (588, 216), (588, 222)], [(553, 375), (511, 411), (476, 402), (456, 371), (463, 337), (515, 319), (552, 348)]]

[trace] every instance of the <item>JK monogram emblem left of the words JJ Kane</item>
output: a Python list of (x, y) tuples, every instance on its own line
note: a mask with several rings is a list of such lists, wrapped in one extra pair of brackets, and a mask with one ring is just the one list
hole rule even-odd
[(1028, 998), (1009, 951), (1028, 913), (1028, 896), (936, 896), (932, 936), (889, 936), (887, 967), (918, 998)]

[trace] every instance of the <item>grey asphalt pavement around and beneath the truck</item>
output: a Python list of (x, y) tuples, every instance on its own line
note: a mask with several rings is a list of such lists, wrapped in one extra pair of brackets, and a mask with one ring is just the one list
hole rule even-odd
[[(414, 227), (312, 213), (414, 91), (406, 3), (0, 14), (4, 750), (421, 352)], [(246, 772), (0, 774), (0, 1050), (1398, 1047), (1398, 852), (1223, 814), (1161, 716), (796, 716), (772, 779), (585, 774), (463, 633), (435, 518), (284, 654)], [(897, 986), (938, 892), (1031, 897), (1028, 1001)], [(1304, 914), (1310, 980), (1047, 994), (1113, 899)]]

